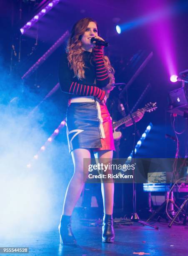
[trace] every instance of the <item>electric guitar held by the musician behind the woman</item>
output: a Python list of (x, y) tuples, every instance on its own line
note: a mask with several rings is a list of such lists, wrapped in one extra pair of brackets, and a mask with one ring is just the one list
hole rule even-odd
[[(149, 113), (150, 113), (150, 112), (152, 112), (153, 110), (157, 109), (156, 104), (157, 104), (157, 102), (155, 102), (155, 103), (150, 102), (150, 103), (146, 104), (145, 107), (144, 107), (144, 108), (141, 108), (140, 110), (141, 110), (141, 111), (144, 111), (144, 112), (149, 112)], [(135, 112), (132, 114), (132, 117), (135, 118), (136, 116), (137, 116), (137, 113), (136, 113), (136, 111), (135, 111)], [(128, 116), (125, 116), (124, 118), (120, 119), (120, 120), (117, 121), (117, 122), (113, 122), (112, 128), (113, 128), (113, 138), (114, 138), (114, 140), (118, 140), (118, 139), (121, 138), (121, 132), (120, 132), (120, 131), (115, 131), (115, 130), (116, 130), (120, 125), (123, 125), (124, 123), (125, 123), (125, 125), (126, 125), (126, 123), (127, 123), (128, 121), (130, 121), (130, 120), (132, 120), (132, 118), (131, 118), (130, 115), (128, 115)]]

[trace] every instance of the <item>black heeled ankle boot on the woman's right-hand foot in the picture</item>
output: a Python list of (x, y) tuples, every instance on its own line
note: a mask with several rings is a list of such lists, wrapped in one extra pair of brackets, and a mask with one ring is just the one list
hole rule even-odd
[(112, 215), (104, 214), (103, 217), (103, 243), (113, 243), (114, 242), (114, 229), (113, 229), (113, 218)]

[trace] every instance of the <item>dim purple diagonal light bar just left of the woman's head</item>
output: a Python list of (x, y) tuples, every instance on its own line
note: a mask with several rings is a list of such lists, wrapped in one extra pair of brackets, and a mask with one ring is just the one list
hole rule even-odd
[(55, 44), (53, 44), (53, 46), (50, 47), (50, 49), (48, 49), (48, 51), (45, 52), (45, 54), (43, 54), (42, 57), (40, 57), (40, 59), (38, 59), (37, 62), (35, 62), (35, 64), (30, 67), (30, 69), (23, 75), (22, 79), (27, 78), (30, 74), (32, 74), (36, 69), (38, 69), (38, 67), (40, 67), (41, 64), (43, 64), (45, 62), (46, 59), (48, 59), (48, 57), (62, 44), (62, 42), (69, 36), (69, 31), (67, 30), (63, 36), (61, 36), (56, 42)]

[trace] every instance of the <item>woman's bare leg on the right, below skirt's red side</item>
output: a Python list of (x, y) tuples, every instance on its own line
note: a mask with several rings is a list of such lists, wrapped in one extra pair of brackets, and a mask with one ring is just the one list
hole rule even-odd
[[(101, 150), (95, 153), (95, 159), (97, 159), (99, 163), (106, 164), (105, 159), (112, 159), (112, 158), (113, 158), (112, 150)], [(108, 173), (111, 173), (111, 170), (108, 170)], [(114, 196), (113, 179), (112, 179), (112, 182), (110, 183), (106, 183), (106, 182), (101, 183), (101, 191), (103, 196), (104, 213), (108, 215), (112, 215), (113, 214), (113, 196)]]

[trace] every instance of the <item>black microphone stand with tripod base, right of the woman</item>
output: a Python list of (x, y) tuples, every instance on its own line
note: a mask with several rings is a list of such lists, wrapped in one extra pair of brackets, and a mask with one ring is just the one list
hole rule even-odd
[[(134, 125), (134, 133), (133, 133), (133, 157), (132, 157), (132, 160), (134, 159), (134, 156), (135, 156), (135, 138), (136, 138), (136, 133), (137, 135), (139, 136), (140, 138), (140, 133), (138, 131), (138, 129), (136, 128), (136, 123), (133, 119), (133, 116), (131, 114), (131, 111), (130, 111), (130, 108), (128, 106), (128, 102), (125, 102), (125, 99), (122, 95), (120, 95), (120, 99), (123, 100), (123, 103), (126, 105), (127, 107), (127, 111), (128, 111), (128, 115), (130, 115), (132, 121), (133, 121), (133, 125)], [(130, 218), (133, 222), (138, 222), (138, 223), (141, 223), (143, 225), (146, 225), (146, 226), (150, 226), (152, 228), (155, 228), (155, 229), (158, 229), (158, 226), (154, 226), (154, 225), (150, 225), (149, 223), (143, 221), (143, 220), (140, 220), (139, 216), (138, 216), (138, 213), (136, 212), (136, 183), (135, 183), (135, 171), (133, 170), (133, 213), (131, 215), (131, 218)]]

